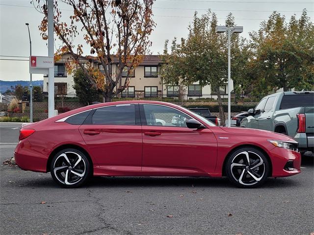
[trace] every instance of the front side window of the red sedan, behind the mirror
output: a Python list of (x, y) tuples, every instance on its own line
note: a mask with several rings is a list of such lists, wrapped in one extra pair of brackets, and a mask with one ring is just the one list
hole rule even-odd
[(166, 106), (144, 104), (143, 107), (148, 126), (186, 127), (186, 121), (190, 119), (181, 111)]

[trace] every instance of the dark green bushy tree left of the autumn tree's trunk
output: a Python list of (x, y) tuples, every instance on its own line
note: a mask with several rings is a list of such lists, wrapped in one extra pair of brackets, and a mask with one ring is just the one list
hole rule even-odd
[(82, 104), (89, 105), (91, 102), (102, 100), (102, 91), (91, 85), (90, 80), (81, 69), (74, 74), (73, 88)]

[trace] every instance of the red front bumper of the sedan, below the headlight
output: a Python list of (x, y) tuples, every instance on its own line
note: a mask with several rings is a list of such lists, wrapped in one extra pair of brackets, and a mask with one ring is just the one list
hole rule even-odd
[[(287, 177), (301, 173), (301, 154), (287, 148), (274, 147), (270, 151), (272, 176)], [(286, 164), (293, 162), (293, 169), (288, 170)], [(285, 169), (286, 168), (286, 169)], [(292, 167), (291, 167), (292, 168)]]

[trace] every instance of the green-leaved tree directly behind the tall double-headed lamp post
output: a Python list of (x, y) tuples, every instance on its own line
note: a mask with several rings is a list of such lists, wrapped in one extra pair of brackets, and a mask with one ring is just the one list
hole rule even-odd
[[(234, 17), (230, 13), (226, 20), (227, 26), (234, 26)], [(222, 106), (219, 87), (224, 86), (228, 80), (228, 53), (227, 53), (227, 33), (218, 34), (215, 32), (217, 26), (217, 17), (210, 10), (198, 17), (194, 14), (193, 23), (188, 26), (188, 36), (181, 39), (177, 44), (176, 38), (171, 45), (171, 51), (168, 52), (168, 41), (165, 42), (163, 52), (164, 65), (161, 67), (161, 78), (164, 84), (183, 84), (190, 85), (199, 82), (201, 86), (211, 85), (215, 88), (218, 101), (219, 113), (222, 124), (225, 123), (224, 110)], [(246, 66), (246, 57), (242, 55), (242, 47), (246, 41), (237, 34), (233, 34), (232, 42), (232, 78), (236, 83), (243, 79), (243, 73)], [(247, 55), (247, 54), (245, 54)], [(239, 67), (239, 65), (241, 65)]]

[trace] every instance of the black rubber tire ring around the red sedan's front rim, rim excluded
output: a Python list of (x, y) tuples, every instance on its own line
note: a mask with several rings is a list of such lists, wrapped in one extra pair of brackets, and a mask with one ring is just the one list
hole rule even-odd
[[(235, 158), (235, 156), (243, 151), (250, 151), (250, 152), (255, 152), (257, 153), (263, 160), (264, 164), (265, 164), (265, 172), (264, 175), (262, 177), (262, 179), (254, 184), (254, 185), (242, 185), (240, 184), (232, 175), (231, 172), (231, 164), (232, 164), (232, 160)], [(233, 183), (235, 186), (239, 187), (239, 188), (257, 188), (260, 187), (262, 184), (264, 184), (264, 182), (266, 181), (267, 177), (270, 175), (270, 165), (269, 165), (269, 161), (267, 159), (267, 157), (265, 156), (265, 154), (259, 150), (256, 149), (254, 147), (243, 147), (243, 148), (239, 148), (237, 150), (235, 150), (232, 154), (229, 155), (228, 159), (227, 159), (227, 163), (226, 163), (226, 175), (228, 177), (228, 179), (230, 180), (231, 183)]]

